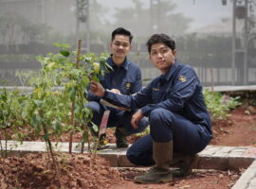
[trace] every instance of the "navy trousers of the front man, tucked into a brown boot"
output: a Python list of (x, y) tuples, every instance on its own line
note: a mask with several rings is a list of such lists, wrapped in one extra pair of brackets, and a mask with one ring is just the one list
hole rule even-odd
[(165, 109), (159, 108), (152, 111), (149, 116), (149, 124), (150, 135), (137, 140), (127, 150), (127, 158), (137, 165), (154, 163), (152, 158), (153, 140), (158, 143), (174, 141), (174, 152), (183, 153), (197, 153), (203, 150), (210, 141), (210, 136), (204, 132), (204, 127), (194, 125), (181, 115)]

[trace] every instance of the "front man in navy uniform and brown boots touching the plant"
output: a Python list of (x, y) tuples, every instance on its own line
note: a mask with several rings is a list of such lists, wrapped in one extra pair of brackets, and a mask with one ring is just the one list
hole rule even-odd
[[(156, 183), (190, 174), (196, 153), (212, 138), (210, 113), (202, 85), (194, 70), (175, 59), (175, 43), (168, 35), (155, 34), (147, 42), (150, 60), (162, 75), (155, 77), (136, 95), (114, 94), (92, 81), (91, 91), (109, 102), (139, 109), (132, 117), (135, 129), (149, 117), (150, 135), (137, 140), (127, 158), (137, 165), (155, 166), (135, 181)], [(178, 169), (170, 170), (170, 166)]]

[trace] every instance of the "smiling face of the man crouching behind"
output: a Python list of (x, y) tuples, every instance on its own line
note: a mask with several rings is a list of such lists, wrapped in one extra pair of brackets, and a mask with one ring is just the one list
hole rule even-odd
[(129, 36), (116, 35), (110, 48), (114, 59), (124, 59), (132, 48)]

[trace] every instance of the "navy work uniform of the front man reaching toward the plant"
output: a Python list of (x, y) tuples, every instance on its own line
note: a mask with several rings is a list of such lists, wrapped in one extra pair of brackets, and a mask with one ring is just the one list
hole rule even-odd
[(127, 158), (137, 165), (154, 164), (153, 140), (173, 140), (174, 152), (190, 154), (203, 150), (212, 138), (210, 113), (199, 78), (191, 66), (177, 60), (167, 74), (155, 77), (136, 95), (106, 91), (103, 98), (118, 106), (140, 108), (149, 117), (150, 135), (127, 150)]

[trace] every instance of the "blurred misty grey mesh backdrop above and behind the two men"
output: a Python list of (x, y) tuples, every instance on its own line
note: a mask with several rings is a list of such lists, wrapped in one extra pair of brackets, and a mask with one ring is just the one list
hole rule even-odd
[(256, 0), (0, 0), (0, 80), (23, 84), (17, 71), (39, 69), (35, 57), (57, 52), (52, 43), (76, 48), (81, 38), (82, 52), (109, 52), (123, 26), (144, 80), (159, 75), (145, 43), (166, 33), (204, 86), (256, 84), (255, 8)]

